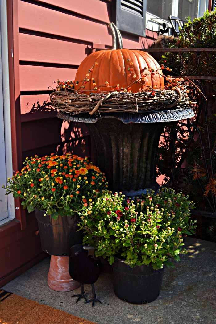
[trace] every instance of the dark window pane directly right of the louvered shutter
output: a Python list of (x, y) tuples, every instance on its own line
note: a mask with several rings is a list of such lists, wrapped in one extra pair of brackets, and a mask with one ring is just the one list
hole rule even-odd
[(172, 8), (173, 0), (147, 0), (146, 4), (146, 11), (160, 18), (168, 18), (172, 15)]

